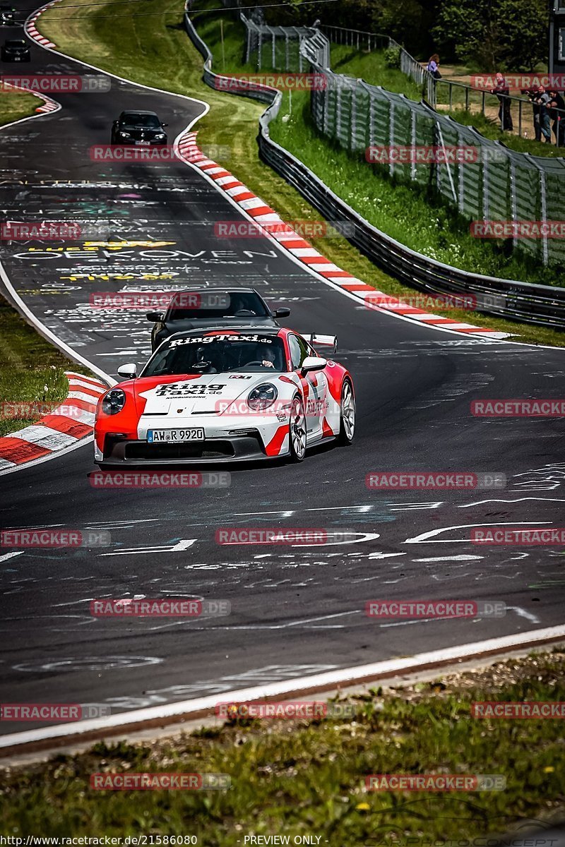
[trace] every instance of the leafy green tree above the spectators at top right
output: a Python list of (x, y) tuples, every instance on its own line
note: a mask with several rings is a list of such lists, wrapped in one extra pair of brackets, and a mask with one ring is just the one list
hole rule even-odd
[(532, 70), (547, 61), (547, 0), (443, 0), (438, 52), (481, 70)]

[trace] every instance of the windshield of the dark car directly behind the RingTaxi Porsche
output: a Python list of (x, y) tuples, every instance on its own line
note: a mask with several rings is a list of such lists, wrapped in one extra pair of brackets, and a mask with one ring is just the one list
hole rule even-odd
[[(193, 297), (192, 302), (190, 301)], [(165, 322), (214, 318), (268, 318), (269, 311), (253, 291), (180, 291), (174, 295), (165, 315)]]

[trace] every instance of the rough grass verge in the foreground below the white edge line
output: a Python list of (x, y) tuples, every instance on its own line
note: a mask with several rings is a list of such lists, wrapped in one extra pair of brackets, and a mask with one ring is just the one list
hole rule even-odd
[[(347, 700), (346, 718), (236, 719), (149, 744), (100, 743), (4, 772), (5, 831), (145, 834), (146, 844), (167, 844), (149, 839), (159, 833), (194, 835), (203, 847), (241, 847), (246, 835), (269, 833), (340, 847), (524, 835), (527, 820), (548, 827), (565, 813), (562, 721), (479, 720), (471, 704), (565, 700), (564, 679), (565, 653), (554, 650), (432, 683), (371, 689)], [(231, 787), (90, 788), (92, 773), (117, 772), (222, 773)], [(398, 773), (496, 774), (507, 786), (443, 794), (365, 789), (368, 775)]]

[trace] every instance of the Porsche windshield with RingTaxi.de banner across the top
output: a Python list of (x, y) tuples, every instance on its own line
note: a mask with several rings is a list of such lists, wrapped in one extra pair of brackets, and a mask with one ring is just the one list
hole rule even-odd
[(141, 376), (286, 371), (285, 346), (276, 335), (197, 335), (171, 339)]

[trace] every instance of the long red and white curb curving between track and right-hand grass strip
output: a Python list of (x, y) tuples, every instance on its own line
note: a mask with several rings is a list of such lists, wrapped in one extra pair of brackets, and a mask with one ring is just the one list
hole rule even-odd
[(420, 324), (433, 326), (437, 329), (449, 329), (464, 335), (480, 335), (491, 339), (507, 338), (510, 333), (497, 332), (495, 329), (474, 326), (474, 324), (462, 324), (453, 318), (442, 318), (440, 315), (431, 314), (424, 309), (418, 309), (408, 303), (397, 300), (367, 285), (363, 280), (358, 280), (346, 270), (338, 266), (330, 259), (322, 256), (308, 241), (298, 235), (295, 230), (280, 218), (273, 208), (267, 205), (260, 197), (238, 180), (229, 170), (224, 169), (213, 159), (208, 158), (197, 146), (197, 132), (186, 132), (177, 141), (180, 158), (201, 169), (219, 188), (224, 191), (230, 199), (235, 202), (243, 212), (253, 221), (261, 224), (277, 224), (277, 230), (265, 229), (265, 233), (278, 241), (280, 246), (291, 253), (291, 256), (307, 265), (309, 270), (315, 271), (324, 280), (334, 285), (339, 285), (343, 291), (358, 297), (360, 300), (368, 301), (368, 307), (375, 311), (391, 312), (401, 315), (403, 318), (417, 321)]

